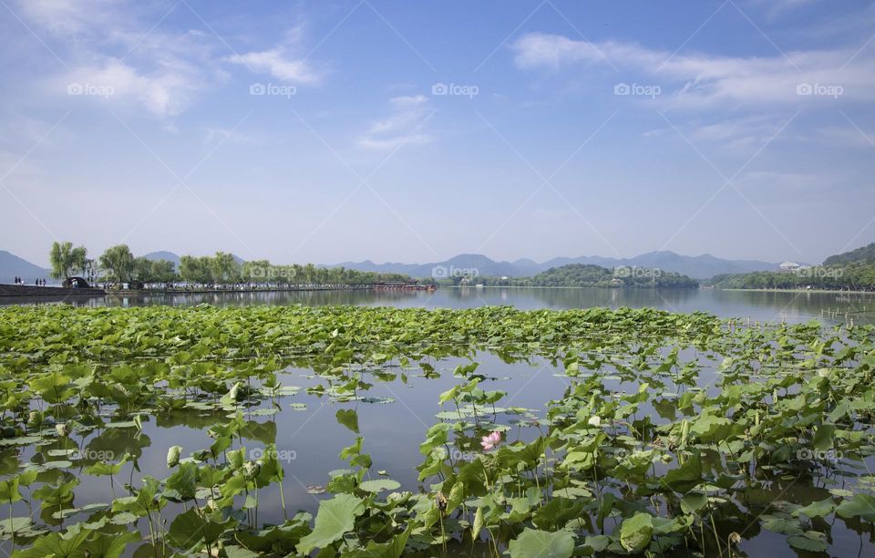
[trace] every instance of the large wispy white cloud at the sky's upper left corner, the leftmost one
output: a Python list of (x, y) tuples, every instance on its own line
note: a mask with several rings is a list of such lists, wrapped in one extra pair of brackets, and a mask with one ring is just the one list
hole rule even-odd
[(68, 86), (92, 87), (91, 100), (166, 118), (227, 78), (212, 36), (156, 25), (184, 9), (180, 5), (148, 16), (138, 5), (118, 0), (27, 0), (20, 9), (53, 47), (63, 48), (58, 54), (68, 71), (47, 80), (51, 94), (67, 96)]

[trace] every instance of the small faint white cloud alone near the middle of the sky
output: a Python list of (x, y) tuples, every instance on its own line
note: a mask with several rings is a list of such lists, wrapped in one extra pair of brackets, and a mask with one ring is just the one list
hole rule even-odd
[(362, 134), (356, 143), (372, 150), (393, 150), (403, 144), (424, 144), (434, 140), (423, 131), (429, 116), (426, 96), (405, 96), (389, 99), (392, 114), (380, 119)]

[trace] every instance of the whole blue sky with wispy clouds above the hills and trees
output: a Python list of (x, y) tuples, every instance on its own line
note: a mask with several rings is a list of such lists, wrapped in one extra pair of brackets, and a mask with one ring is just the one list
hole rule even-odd
[(0, 0), (2, 248), (817, 263), (875, 240), (875, 3)]

